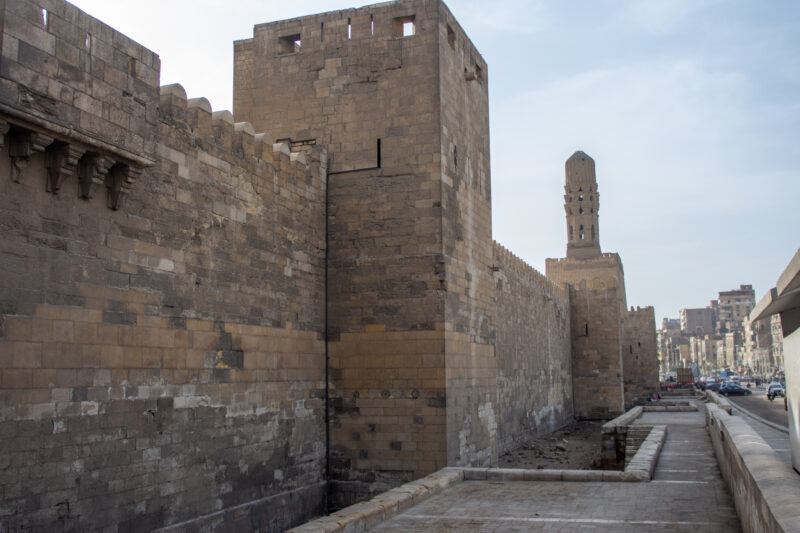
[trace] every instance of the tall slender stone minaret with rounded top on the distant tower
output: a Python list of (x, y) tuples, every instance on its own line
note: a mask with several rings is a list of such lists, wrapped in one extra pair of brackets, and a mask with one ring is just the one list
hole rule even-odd
[(564, 186), (564, 210), (567, 212), (567, 257), (591, 259), (599, 256), (600, 194), (594, 159), (577, 151), (567, 159), (567, 184)]

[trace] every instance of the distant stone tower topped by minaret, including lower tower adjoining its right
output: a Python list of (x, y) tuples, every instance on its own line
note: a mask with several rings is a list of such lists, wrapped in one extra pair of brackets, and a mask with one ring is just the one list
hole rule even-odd
[(619, 254), (600, 250), (594, 160), (566, 165), (567, 257), (547, 259), (547, 277), (570, 287), (575, 416), (607, 419), (658, 385), (655, 314), (627, 308)]

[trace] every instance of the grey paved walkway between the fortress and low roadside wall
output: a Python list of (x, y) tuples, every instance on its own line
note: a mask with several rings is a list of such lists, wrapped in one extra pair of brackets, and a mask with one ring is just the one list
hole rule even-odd
[(370, 531), (741, 531), (703, 413), (637, 421), (669, 426), (653, 481), (464, 481)]

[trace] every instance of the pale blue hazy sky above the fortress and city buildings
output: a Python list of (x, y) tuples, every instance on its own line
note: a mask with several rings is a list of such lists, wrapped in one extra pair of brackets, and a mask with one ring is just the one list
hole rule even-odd
[[(233, 41), (254, 24), (367, 2), (73, 3), (159, 54), (162, 84), (221, 110)], [(489, 65), (496, 240), (541, 272), (564, 256), (564, 162), (583, 150), (629, 305), (654, 305), (660, 324), (775, 285), (800, 246), (800, 2), (447, 4)]]

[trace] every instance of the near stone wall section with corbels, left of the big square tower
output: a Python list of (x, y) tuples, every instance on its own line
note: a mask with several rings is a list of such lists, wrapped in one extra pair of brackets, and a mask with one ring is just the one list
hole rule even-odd
[(70, 4), (0, 12), (0, 529), (323, 512), (324, 149)]

